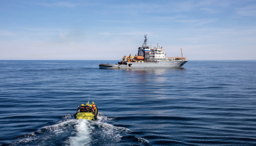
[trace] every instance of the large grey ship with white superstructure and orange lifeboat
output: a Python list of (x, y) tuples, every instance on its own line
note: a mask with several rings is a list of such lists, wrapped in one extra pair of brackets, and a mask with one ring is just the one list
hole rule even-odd
[(183, 57), (165, 57), (163, 46), (151, 47), (147, 44), (147, 35), (144, 43), (138, 48), (138, 55), (124, 56), (117, 64), (100, 64), (100, 69), (137, 69), (137, 68), (181, 68), (188, 60)]

